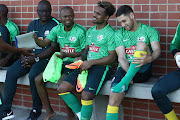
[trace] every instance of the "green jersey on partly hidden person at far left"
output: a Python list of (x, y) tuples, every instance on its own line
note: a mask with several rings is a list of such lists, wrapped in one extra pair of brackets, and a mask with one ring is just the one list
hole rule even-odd
[(18, 26), (10, 21), (10, 20), (7, 20), (7, 23), (5, 25), (10, 33), (10, 40), (11, 40), (11, 44), (12, 44), (12, 41), (15, 41), (15, 36), (19, 35), (19, 28)]

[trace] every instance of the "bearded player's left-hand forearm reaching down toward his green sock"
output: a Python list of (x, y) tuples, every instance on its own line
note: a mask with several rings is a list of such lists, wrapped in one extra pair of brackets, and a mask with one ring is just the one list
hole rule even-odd
[(128, 60), (126, 58), (125, 47), (124, 46), (116, 47), (116, 53), (118, 56), (118, 62), (120, 64), (120, 66), (122, 67), (122, 69), (124, 71), (127, 72), (129, 69), (129, 63), (128, 63)]

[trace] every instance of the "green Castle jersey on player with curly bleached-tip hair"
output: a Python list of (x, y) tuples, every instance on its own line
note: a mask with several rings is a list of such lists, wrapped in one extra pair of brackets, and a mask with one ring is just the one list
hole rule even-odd
[(86, 33), (86, 45), (89, 45), (87, 60), (94, 60), (106, 57), (108, 51), (115, 50), (114, 28), (107, 24), (103, 29), (96, 30), (91, 27)]

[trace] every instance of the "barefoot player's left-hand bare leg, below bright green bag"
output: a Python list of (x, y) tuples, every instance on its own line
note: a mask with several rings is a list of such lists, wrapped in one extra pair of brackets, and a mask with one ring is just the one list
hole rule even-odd
[(37, 86), (37, 91), (38, 91), (39, 97), (41, 98), (41, 101), (46, 109), (46, 117), (44, 120), (49, 120), (50, 118), (54, 117), (56, 115), (56, 113), (54, 112), (54, 110), (52, 109), (52, 107), (50, 105), (50, 101), (48, 98), (48, 92), (45, 87), (45, 83), (43, 81), (42, 73), (39, 74), (35, 78), (35, 81), (36, 81), (36, 86)]

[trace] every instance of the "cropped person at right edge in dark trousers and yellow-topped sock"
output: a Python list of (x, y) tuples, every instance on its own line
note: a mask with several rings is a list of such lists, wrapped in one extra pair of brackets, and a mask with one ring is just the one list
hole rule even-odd
[(153, 86), (151, 93), (167, 120), (178, 120), (167, 94), (180, 88), (180, 24), (177, 26), (176, 34), (171, 42), (170, 51), (179, 68), (160, 78)]

